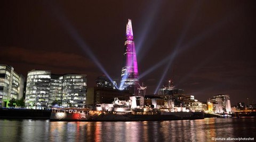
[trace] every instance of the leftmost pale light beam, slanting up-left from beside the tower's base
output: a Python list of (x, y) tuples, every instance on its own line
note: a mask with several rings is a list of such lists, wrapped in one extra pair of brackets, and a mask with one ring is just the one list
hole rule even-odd
[(70, 34), (71, 38), (77, 42), (79, 47), (92, 59), (92, 61), (100, 68), (101, 72), (103, 72), (107, 78), (113, 83), (113, 85), (118, 88), (113, 79), (109, 76), (105, 68), (100, 64), (100, 61), (94, 56), (93, 52), (91, 51), (90, 47), (86, 45), (84, 40), (79, 36), (79, 33), (77, 30), (74, 28), (74, 26), (71, 25), (71, 23), (67, 20), (65, 15), (61, 13), (61, 11), (57, 7), (51, 7), (51, 10), (53, 11), (55, 17), (60, 21), (62, 26), (67, 30), (67, 32)]

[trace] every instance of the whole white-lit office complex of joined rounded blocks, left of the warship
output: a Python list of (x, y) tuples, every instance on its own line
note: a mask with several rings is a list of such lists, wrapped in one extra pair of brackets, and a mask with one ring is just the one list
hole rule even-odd
[(26, 107), (46, 109), (55, 101), (62, 106), (84, 107), (86, 83), (86, 75), (55, 75), (50, 70), (31, 70), (27, 77)]

